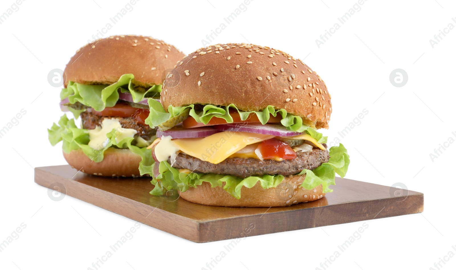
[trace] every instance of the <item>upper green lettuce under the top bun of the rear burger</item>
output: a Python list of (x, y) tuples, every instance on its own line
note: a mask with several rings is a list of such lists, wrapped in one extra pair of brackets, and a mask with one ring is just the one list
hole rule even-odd
[(139, 88), (135, 88), (133, 84), (134, 78), (133, 74), (124, 74), (116, 83), (111, 85), (88, 85), (70, 81), (67, 88), (60, 92), (60, 99), (68, 98), (71, 104), (79, 102), (96, 111), (102, 111), (106, 107), (114, 107), (119, 100), (118, 90), (121, 93), (130, 93), (134, 102), (140, 102), (144, 97), (150, 97), (161, 92), (160, 84), (156, 84), (145, 91), (139, 91)]

